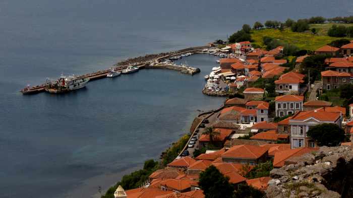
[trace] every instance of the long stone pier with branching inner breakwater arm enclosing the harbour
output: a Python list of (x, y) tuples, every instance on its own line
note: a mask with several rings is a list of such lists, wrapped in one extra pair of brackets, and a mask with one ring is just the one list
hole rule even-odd
[[(183, 54), (183, 53), (197, 52), (197, 51), (200, 51), (201, 49), (205, 49), (205, 48), (209, 48), (209, 46), (191, 47), (191, 48), (186, 48), (186, 49), (182, 49), (182, 50), (174, 51), (174, 52), (161, 53), (161, 54), (151, 54), (151, 55), (146, 55), (144, 57), (132, 58), (132, 59), (122, 61), (124, 63), (129, 63), (129, 64), (121, 65), (120, 63), (117, 63), (115, 65), (116, 67), (113, 69), (115, 71), (121, 72), (122, 70), (124, 70), (127, 67), (129, 67), (130, 65), (132, 65), (132, 66), (138, 67), (139, 70), (140, 69), (168, 69), (168, 70), (179, 71), (183, 74), (194, 75), (194, 74), (199, 73), (200, 69), (186, 67), (183, 65), (181, 66), (181, 65), (164, 64), (164, 63), (161, 63), (161, 60), (166, 59), (171, 56)], [(97, 71), (94, 73), (78, 76), (77, 78), (78, 79), (89, 78), (90, 81), (94, 81), (94, 80), (106, 78), (107, 74), (110, 71), (111, 71), (111, 69), (101, 70), (101, 71)], [(22, 92), (22, 94), (37, 94), (37, 93), (45, 92), (45, 84), (37, 85), (37, 86), (33, 86), (33, 87), (26, 87), (26, 88), (22, 89), (21, 92)]]

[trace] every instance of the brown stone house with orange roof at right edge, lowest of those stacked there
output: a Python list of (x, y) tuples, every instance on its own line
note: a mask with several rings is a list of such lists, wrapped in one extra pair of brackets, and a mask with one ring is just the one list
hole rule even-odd
[(322, 89), (338, 89), (341, 85), (350, 84), (349, 73), (339, 73), (336, 71), (324, 71), (321, 72), (321, 87)]

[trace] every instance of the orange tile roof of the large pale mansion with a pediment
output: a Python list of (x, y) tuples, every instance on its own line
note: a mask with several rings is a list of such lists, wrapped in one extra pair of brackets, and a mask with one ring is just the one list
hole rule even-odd
[(294, 114), (289, 122), (293, 121), (304, 121), (309, 118), (314, 118), (319, 121), (336, 121), (341, 116), (341, 113), (337, 112), (325, 112), (312, 110), (312, 111), (300, 111)]

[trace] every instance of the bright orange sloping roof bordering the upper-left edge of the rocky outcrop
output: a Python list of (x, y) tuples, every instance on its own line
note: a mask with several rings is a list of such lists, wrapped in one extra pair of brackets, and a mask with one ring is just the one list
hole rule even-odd
[(312, 151), (317, 151), (315, 148), (301, 147), (297, 149), (289, 149), (277, 152), (274, 155), (273, 166), (278, 168), (284, 166), (286, 160), (291, 157), (300, 157), (306, 153), (311, 153)]

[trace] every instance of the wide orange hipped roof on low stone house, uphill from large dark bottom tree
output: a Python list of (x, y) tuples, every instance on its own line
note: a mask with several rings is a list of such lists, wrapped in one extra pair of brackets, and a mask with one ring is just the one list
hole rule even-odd
[(267, 152), (268, 149), (254, 145), (237, 145), (231, 147), (221, 156), (230, 158), (258, 159)]

